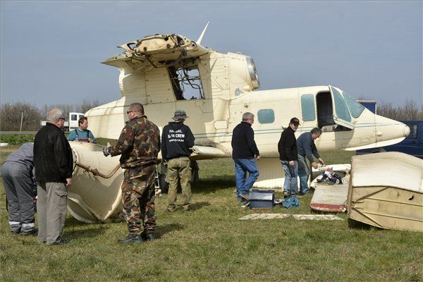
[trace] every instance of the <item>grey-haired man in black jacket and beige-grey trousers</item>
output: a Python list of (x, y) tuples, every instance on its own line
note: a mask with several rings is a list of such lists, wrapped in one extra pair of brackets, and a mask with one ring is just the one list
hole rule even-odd
[(34, 167), (37, 180), (38, 242), (63, 245), (68, 187), (72, 184), (73, 156), (63, 133), (61, 109), (51, 109), (47, 124), (34, 140)]

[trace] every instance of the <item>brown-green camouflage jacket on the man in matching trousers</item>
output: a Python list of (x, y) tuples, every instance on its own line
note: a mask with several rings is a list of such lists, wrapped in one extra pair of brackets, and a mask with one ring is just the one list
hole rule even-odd
[(111, 147), (112, 157), (121, 154), (122, 168), (132, 168), (154, 162), (160, 151), (160, 131), (147, 116), (137, 116), (126, 122), (118, 142)]

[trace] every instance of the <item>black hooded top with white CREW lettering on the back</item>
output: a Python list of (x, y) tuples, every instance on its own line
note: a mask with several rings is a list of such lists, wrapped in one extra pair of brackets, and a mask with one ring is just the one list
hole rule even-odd
[(161, 133), (161, 157), (164, 160), (178, 157), (190, 157), (190, 148), (195, 137), (188, 125), (172, 121), (165, 125)]

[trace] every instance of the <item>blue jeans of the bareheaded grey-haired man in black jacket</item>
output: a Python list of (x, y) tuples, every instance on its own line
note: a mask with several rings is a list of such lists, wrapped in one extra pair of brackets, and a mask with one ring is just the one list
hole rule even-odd
[[(241, 195), (248, 195), (255, 180), (259, 177), (259, 168), (255, 159), (233, 159), (235, 163), (236, 199), (243, 200)], [(248, 172), (248, 178), (246, 178)]]

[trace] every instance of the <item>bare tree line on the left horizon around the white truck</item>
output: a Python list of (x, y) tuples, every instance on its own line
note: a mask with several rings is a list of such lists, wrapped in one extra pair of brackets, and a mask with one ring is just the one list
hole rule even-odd
[(41, 127), (41, 121), (46, 120), (47, 111), (51, 108), (62, 109), (68, 121), (70, 112), (85, 113), (101, 104), (104, 102), (98, 99), (84, 99), (80, 104), (44, 104), (41, 108), (27, 102), (4, 103), (0, 108), (0, 131), (19, 131), (21, 118), (23, 131), (36, 131)]

